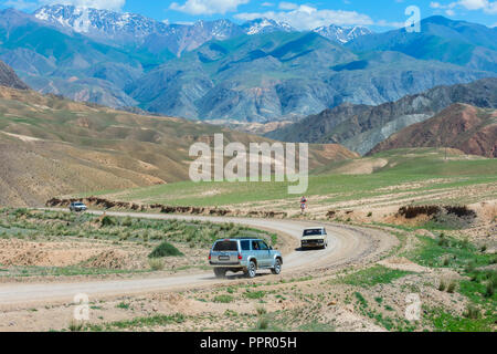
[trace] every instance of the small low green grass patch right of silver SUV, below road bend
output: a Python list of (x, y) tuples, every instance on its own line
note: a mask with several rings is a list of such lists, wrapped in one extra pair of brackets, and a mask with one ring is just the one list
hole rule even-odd
[(409, 274), (413, 274), (413, 272), (389, 269), (383, 266), (374, 266), (372, 268), (345, 275), (339, 281), (350, 285), (366, 288), (376, 284), (388, 284)]

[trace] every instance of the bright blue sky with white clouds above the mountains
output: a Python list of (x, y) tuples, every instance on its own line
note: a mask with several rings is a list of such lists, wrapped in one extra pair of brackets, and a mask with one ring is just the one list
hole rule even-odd
[(302, 30), (336, 23), (367, 25), (377, 31), (401, 27), (408, 19), (405, 9), (416, 6), (421, 18), (443, 14), (497, 25), (497, 0), (0, 0), (2, 8), (13, 7), (27, 12), (46, 3), (136, 12), (170, 23), (219, 18), (243, 22), (267, 17)]

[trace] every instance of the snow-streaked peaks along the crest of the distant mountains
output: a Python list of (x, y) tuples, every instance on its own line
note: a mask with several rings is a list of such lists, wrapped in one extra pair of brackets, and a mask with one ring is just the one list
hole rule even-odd
[[(272, 19), (255, 19), (241, 25), (230, 20), (197, 21), (192, 24), (169, 24), (141, 14), (115, 12), (74, 6), (45, 6), (34, 17), (51, 25), (74, 31), (113, 45), (138, 45), (163, 55), (170, 52), (181, 55), (210, 40), (228, 40), (242, 34), (297, 31), (286, 22)], [(322, 27), (315, 32), (340, 43), (359, 35), (369, 34), (366, 28)]]

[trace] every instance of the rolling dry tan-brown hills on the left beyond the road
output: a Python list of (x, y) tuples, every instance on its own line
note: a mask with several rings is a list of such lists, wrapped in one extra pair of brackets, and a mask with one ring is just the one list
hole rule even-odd
[[(33, 91), (0, 87), (0, 205), (39, 206), (60, 195), (188, 179), (189, 148), (271, 142), (214, 125), (144, 116)], [(339, 145), (310, 147), (310, 165), (356, 157)]]

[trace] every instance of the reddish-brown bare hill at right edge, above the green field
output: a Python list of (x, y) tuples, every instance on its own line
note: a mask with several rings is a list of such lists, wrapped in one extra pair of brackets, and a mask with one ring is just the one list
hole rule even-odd
[(377, 145), (370, 155), (394, 148), (440, 146), (497, 157), (497, 110), (453, 104), (433, 118), (394, 134)]

